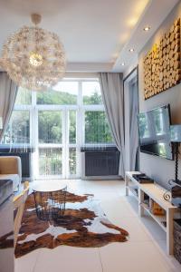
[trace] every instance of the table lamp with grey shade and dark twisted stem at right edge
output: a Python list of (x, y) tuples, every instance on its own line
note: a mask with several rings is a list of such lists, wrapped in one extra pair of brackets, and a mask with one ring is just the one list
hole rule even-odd
[(176, 168), (175, 168), (175, 182), (181, 185), (181, 180), (178, 180), (178, 154), (179, 154), (179, 145), (181, 142), (181, 125), (170, 126), (170, 141), (173, 143), (174, 152), (176, 156)]

